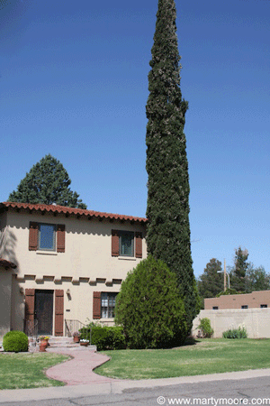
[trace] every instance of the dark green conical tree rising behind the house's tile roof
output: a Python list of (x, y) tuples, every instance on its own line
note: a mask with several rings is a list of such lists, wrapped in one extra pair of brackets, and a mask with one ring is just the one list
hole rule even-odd
[(62, 163), (49, 154), (31, 167), (8, 201), (86, 208), (79, 195), (70, 190), (70, 183)]

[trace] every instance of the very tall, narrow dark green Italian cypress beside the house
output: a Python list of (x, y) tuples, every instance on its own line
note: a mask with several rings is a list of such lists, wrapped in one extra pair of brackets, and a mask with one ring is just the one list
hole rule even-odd
[(158, 0), (148, 74), (148, 253), (177, 276), (189, 327), (198, 310), (189, 225), (189, 178), (184, 135), (188, 104), (180, 89), (174, 0)]

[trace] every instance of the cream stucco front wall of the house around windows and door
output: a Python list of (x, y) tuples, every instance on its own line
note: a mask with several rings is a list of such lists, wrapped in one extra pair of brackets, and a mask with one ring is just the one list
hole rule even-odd
[[(17, 213), (8, 211), (4, 229), (3, 258), (17, 264), (12, 282), (11, 327), (23, 329), (22, 289), (64, 290), (64, 318), (83, 323), (92, 320), (93, 292), (118, 292), (121, 281), (141, 261), (135, 257), (112, 257), (112, 229), (140, 231), (142, 258), (147, 257), (145, 225), (130, 221), (99, 221), (82, 217)], [(29, 251), (30, 221), (65, 224), (65, 253)], [(5, 249), (9, 247), (9, 249)], [(67, 290), (70, 295), (67, 295)], [(113, 319), (101, 319), (112, 324)]]

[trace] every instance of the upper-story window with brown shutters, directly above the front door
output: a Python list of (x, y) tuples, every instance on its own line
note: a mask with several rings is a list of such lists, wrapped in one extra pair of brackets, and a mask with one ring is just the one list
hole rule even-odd
[(65, 253), (65, 239), (65, 225), (30, 222), (30, 251), (57, 251), (58, 253)]

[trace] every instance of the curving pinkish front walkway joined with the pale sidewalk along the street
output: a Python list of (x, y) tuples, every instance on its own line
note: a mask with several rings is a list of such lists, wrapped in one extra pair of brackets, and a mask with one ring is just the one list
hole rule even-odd
[(47, 376), (67, 383), (67, 386), (0, 391), (0, 404), (11, 401), (41, 401), (49, 399), (81, 398), (98, 394), (122, 393), (127, 389), (155, 388), (183, 383), (208, 383), (223, 380), (247, 380), (270, 377), (270, 369), (249, 370), (225, 374), (184, 376), (180, 378), (148, 379), (140, 381), (116, 380), (94, 374), (93, 368), (109, 357), (85, 349), (49, 349), (49, 352), (71, 355), (72, 359), (49, 368)]

